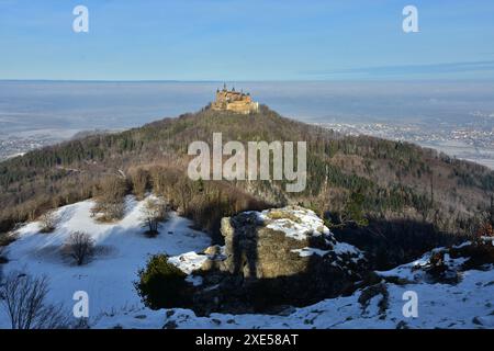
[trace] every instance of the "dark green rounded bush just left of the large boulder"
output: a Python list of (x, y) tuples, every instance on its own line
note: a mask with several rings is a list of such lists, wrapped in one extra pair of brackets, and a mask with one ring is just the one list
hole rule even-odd
[(143, 303), (151, 308), (188, 307), (192, 301), (192, 287), (187, 274), (168, 262), (165, 254), (153, 256), (146, 269), (138, 272), (134, 283)]

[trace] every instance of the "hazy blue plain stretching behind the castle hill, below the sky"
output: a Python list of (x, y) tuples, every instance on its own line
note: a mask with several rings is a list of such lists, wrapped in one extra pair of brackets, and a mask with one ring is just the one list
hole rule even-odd
[[(483, 81), (226, 82), (280, 114), (329, 120), (461, 121), (494, 113), (494, 86)], [(127, 128), (195, 112), (223, 82), (0, 81), (1, 133), (36, 128)]]

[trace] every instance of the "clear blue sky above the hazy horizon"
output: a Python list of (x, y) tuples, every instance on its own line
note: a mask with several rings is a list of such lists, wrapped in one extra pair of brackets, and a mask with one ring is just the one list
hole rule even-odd
[(492, 0), (0, 0), (0, 79), (493, 79), (493, 44)]

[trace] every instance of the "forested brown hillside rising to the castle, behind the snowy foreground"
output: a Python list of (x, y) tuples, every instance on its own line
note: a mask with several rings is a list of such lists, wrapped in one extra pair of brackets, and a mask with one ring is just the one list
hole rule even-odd
[[(211, 143), (213, 133), (222, 133), (224, 143), (307, 141), (306, 190), (287, 193), (282, 181), (190, 181), (188, 146)], [(122, 193), (162, 194), (217, 240), (224, 216), (301, 204), (324, 217), (336, 235), (344, 235), (345, 228), (347, 240), (363, 246), (377, 261), (385, 254), (384, 265), (472, 235), (494, 191), (493, 171), (431, 149), (343, 136), (284, 118), (267, 106), (249, 115), (204, 109), (1, 162), (0, 231), (50, 208), (108, 197), (109, 189), (115, 188), (113, 179), (121, 180)], [(394, 249), (396, 257), (390, 257), (390, 247), (403, 252)]]

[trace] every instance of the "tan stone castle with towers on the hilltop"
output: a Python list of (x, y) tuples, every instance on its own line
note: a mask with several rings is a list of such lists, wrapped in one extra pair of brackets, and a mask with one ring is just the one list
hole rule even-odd
[(216, 90), (216, 101), (211, 103), (211, 109), (249, 114), (259, 111), (259, 103), (254, 102), (249, 93), (235, 91), (235, 88), (228, 90), (224, 84), (223, 90)]

